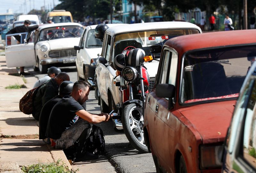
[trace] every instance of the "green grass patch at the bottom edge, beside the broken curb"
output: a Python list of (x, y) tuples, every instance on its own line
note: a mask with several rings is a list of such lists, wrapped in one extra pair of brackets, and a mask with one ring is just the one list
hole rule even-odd
[(77, 170), (69, 170), (68, 166), (63, 163), (62, 160), (58, 160), (56, 163), (49, 163), (49, 164), (34, 164), (29, 166), (22, 166), (21, 170), (25, 173), (76, 173)]

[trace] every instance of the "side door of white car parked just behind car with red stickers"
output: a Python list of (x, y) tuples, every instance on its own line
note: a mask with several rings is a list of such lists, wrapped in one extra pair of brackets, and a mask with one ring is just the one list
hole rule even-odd
[(82, 78), (84, 78), (84, 46), (85, 46), (85, 38), (87, 36), (87, 31), (88, 31), (88, 29), (84, 30), (84, 33), (79, 42), (79, 47), (81, 49), (77, 50), (77, 53), (76, 53), (77, 73), (78, 73), (79, 77), (82, 77)]

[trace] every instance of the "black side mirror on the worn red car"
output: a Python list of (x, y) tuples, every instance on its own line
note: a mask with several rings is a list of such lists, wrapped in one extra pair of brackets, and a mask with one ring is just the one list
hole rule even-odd
[(156, 85), (156, 96), (160, 98), (169, 98), (168, 109), (173, 108), (172, 98), (175, 95), (175, 86), (171, 84), (157, 84)]

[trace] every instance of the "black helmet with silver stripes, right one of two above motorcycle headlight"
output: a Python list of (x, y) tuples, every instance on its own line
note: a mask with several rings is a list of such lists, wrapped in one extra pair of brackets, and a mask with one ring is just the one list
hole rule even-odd
[(127, 63), (131, 66), (139, 66), (143, 63), (145, 51), (140, 48), (132, 49), (127, 56)]

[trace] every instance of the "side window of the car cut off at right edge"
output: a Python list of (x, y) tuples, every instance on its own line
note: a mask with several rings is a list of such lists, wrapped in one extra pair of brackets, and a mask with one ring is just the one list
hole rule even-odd
[(243, 157), (256, 169), (256, 82), (254, 82), (245, 111)]

